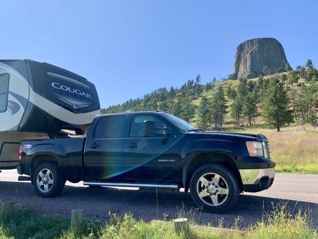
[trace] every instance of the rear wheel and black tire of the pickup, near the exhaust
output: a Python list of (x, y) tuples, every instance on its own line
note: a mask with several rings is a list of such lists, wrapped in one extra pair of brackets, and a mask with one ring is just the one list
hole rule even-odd
[[(50, 172), (48, 172), (48, 170)], [(40, 172), (44, 174), (44, 181), (39, 175)], [(47, 177), (46, 174), (49, 174), (49, 176)], [(41, 178), (42, 180), (40, 180)], [(50, 179), (52, 181), (50, 181)], [(40, 181), (42, 181), (43, 184), (41, 186), (38, 185), (38, 182), (41, 184)], [(38, 166), (33, 175), (33, 186), (35, 192), (37, 192), (37, 194), (43, 198), (52, 198), (59, 195), (65, 186), (65, 182), (66, 179), (61, 176), (57, 163), (42, 163), (40, 166)], [(45, 188), (46, 185), (47, 188)], [(45, 192), (45, 190), (47, 191)]]

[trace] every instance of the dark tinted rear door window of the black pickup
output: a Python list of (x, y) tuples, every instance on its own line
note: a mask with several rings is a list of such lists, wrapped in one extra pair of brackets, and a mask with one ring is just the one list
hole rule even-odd
[(121, 138), (125, 124), (125, 115), (106, 116), (101, 118), (95, 129), (96, 138)]

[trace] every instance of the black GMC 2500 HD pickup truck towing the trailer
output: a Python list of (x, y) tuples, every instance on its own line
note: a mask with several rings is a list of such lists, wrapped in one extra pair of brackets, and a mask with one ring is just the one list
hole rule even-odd
[(202, 131), (160, 111), (99, 115), (86, 137), (22, 141), (19, 174), (42, 197), (66, 180), (88, 186), (190, 189), (198, 207), (221, 213), (239, 194), (268, 189), (274, 180), (262, 134)]

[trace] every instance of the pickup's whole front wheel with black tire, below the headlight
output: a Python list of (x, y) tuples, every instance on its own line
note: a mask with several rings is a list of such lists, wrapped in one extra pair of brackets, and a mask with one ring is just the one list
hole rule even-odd
[[(210, 182), (214, 180), (216, 175), (220, 176), (219, 183), (218, 185), (212, 185)], [(218, 176), (215, 177), (215, 180)], [(210, 185), (204, 185), (199, 179), (203, 179), (203, 181), (206, 179), (205, 183), (208, 182)], [(223, 191), (227, 194), (221, 194)], [(199, 192), (202, 193), (202, 197), (198, 195)], [(216, 163), (205, 164), (193, 173), (190, 180), (190, 193), (192, 200), (199, 208), (202, 207), (203, 211), (223, 213), (236, 204), (239, 198), (239, 183), (234, 174), (225, 166)], [(204, 196), (205, 194), (207, 195)], [(217, 200), (217, 203), (214, 204), (212, 198)], [(221, 204), (219, 205), (219, 203)]]

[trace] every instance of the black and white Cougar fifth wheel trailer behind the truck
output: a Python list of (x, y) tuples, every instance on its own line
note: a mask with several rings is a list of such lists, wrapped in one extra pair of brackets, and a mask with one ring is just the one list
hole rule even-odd
[(20, 142), (85, 134), (100, 103), (93, 83), (48, 63), (0, 60), (0, 170), (15, 169)]

